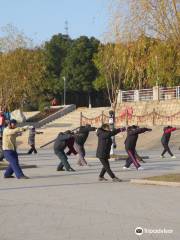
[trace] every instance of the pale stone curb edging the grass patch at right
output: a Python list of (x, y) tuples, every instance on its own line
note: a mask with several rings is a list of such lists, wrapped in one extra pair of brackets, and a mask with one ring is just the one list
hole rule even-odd
[(152, 180), (146, 180), (146, 179), (131, 179), (130, 183), (144, 184), (144, 185), (159, 185), (159, 186), (180, 187), (180, 182), (152, 181)]

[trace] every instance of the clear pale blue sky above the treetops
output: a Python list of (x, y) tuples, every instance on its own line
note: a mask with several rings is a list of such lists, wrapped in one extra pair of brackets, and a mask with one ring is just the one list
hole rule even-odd
[(35, 43), (57, 33), (102, 39), (106, 31), (111, 0), (0, 0), (0, 28), (12, 24)]

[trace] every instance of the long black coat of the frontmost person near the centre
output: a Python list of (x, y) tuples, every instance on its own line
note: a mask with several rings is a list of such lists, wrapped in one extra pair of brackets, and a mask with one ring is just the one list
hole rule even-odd
[(96, 157), (100, 159), (109, 159), (110, 150), (112, 145), (112, 136), (115, 136), (119, 132), (125, 131), (124, 128), (114, 129), (113, 131), (107, 131), (102, 128), (97, 130), (98, 146), (96, 151)]

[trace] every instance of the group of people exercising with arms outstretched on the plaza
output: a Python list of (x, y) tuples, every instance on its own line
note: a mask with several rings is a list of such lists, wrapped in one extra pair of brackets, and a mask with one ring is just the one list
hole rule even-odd
[[(15, 173), (16, 178), (18, 179), (28, 179), (29, 177), (25, 176), (21, 166), (19, 165), (19, 159), (16, 148), (16, 137), (21, 135), (23, 131), (29, 129), (29, 144), (31, 146), (28, 154), (34, 152), (37, 153), (35, 148), (35, 135), (40, 134), (42, 132), (36, 131), (35, 127), (25, 126), (22, 128), (17, 127), (16, 120), (12, 119), (9, 121), (7, 127), (3, 131), (2, 138), (2, 149), (4, 158), (9, 162), (9, 165), (4, 173), (4, 178), (12, 178), (13, 173)], [(164, 146), (164, 150), (161, 154), (164, 157), (164, 154), (168, 152), (172, 158), (175, 156), (172, 154), (169, 148), (169, 140), (171, 137), (171, 132), (179, 130), (177, 128), (173, 128), (171, 126), (167, 126), (164, 128), (163, 136), (161, 138), (162, 145)], [(102, 124), (100, 128), (92, 127), (91, 125), (80, 126), (76, 132), (73, 131), (65, 131), (60, 132), (57, 138), (54, 140), (54, 153), (60, 160), (60, 163), (57, 167), (57, 171), (75, 171), (68, 162), (68, 156), (71, 154), (78, 155), (78, 165), (86, 166), (88, 163), (85, 160), (85, 148), (84, 144), (89, 136), (91, 131), (96, 131), (96, 135), (98, 138), (98, 145), (96, 150), (96, 157), (99, 158), (102, 169), (99, 174), (99, 181), (107, 181), (104, 177), (107, 172), (108, 175), (112, 178), (114, 182), (120, 182), (119, 179), (111, 170), (109, 159), (110, 159), (110, 150), (113, 144), (112, 137), (121, 133), (127, 132), (126, 140), (125, 140), (125, 149), (128, 154), (128, 158), (126, 159), (124, 170), (130, 168), (131, 164), (134, 164), (137, 170), (143, 170), (139, 161), (137, 160), (137, 152), (136, 152), (136, 143), (138, 140), (138, 136), (141, 133), (152, 131), (150, 128), (140, 128), (139, 126), (132, 125), (129, 127), (116, 128), (111, 130), (109, 124)], [(68, 151), (65, 153), (65, 149), (68, 148)]]

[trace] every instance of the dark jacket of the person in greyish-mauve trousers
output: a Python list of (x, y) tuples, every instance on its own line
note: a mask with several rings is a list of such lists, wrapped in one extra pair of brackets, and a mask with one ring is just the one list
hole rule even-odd
[(81, 146), (84, 145), (89, 136), (89, 132), (95, 131), (95, 130), (96, 130), (95, 127), (81, 126), (79, 128), (78, 133), (75, 135), (75, 143)]

